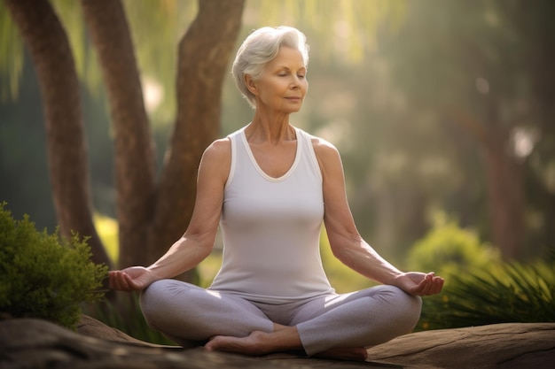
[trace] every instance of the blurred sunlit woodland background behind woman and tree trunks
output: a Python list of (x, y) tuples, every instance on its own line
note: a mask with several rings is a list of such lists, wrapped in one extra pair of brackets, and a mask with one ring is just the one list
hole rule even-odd
[[(117, 232), (108, 98), (81, 12), (69, 3), (77, 2), (51, 1), (80, 75), (92, 202), (106, 235)], [(197, 4), (122, 3), (160, 168), (175, 122), (177, 43)], [(445, 227), (472, 234), (500, 258), (552, 258), (554, 7), (541, 0), (247, 0), (233, 55), (256, 27), (283, 24), (307, 35), (309, 95), (293, 125), (338, 147), (356, 224), (386, 258), (411, 267), (410, 250)], [(58, 220), (41, 92), (8, 12), (0, 11), (0, 58), (4, 65), (20, 58), (19, 70), (4, 66), (0, 75), (0, 200), (14, 217), (27, 213), (51, 230)], [(250, 121), (231, 75), (222, 104), (221, 136)]]

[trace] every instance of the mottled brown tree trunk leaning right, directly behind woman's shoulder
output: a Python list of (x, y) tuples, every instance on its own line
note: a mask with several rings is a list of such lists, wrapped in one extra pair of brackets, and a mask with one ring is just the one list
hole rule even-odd
[(220, 133), (223, 79), (241, 25), (244, 0), (199, 1), (179, 43), (177, 119), (160, 180), (149, 258), (158, 258), (187, 227), (203, 151)]

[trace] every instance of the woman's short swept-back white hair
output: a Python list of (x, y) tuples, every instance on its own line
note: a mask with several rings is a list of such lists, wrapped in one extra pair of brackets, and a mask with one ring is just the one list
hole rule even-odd
[(245, 75), (250, 74), (254, 81), (262, 77), (264, 65), (276, 58), (282, 46), (301, 51), (304, 66), (309, 65), (309, 45), (306, 36), (293, 27), (262, 27), (248, 35), (237, 51), (231, 73), (239, 92), (248, 104), (256, 107), (254, 94), (246, 88)]

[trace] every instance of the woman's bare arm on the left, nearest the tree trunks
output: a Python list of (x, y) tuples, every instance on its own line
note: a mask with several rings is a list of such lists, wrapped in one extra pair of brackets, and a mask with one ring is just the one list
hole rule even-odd
[(231, 142), (228, 139), (213, 142), (200, 160), (195, 207), (184, 235), (154, 264), (110, 272), (110, 288), (144, 289), (153, 281), (191, 270), (207, 258), (214, 246), (230, 167)]

